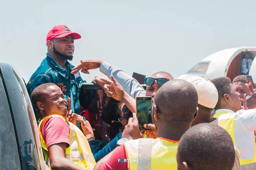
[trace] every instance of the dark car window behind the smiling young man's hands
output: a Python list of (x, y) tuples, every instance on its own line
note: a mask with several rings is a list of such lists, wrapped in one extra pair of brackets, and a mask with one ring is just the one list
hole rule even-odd
[(83, 85), (80, 91), (81, 115), (90, 122), (95, 139), (102, 141), (104, 146), (117, 135), (122, 126), (118, 122), (120, 116), (117, 115), (119, 102), (107, 97), (104, 90), (89, 86)]

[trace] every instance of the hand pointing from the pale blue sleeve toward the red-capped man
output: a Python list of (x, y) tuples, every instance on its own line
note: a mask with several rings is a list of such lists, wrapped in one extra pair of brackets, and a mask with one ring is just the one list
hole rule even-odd
[(71, 74), (74, 74), (79, 70), (81, 70), (81, 72), (85, 74), (90, 74), (88, 70), (99, 68), (102, 63), (102, 61), (100, 60), (85, 60), (85, 61), (81, 60), (80, 62), (81, 62), (80, 64), (72, 68), (72, 71), (70, 72)]

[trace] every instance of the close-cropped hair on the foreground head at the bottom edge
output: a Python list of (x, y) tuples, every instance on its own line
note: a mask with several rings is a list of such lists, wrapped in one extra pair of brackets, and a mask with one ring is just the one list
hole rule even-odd
[(182, 135), (177, 151), (179, 162), (196, 170), (231, 170), (235, 149), (228, 132), (218, 125), (201, 123)]

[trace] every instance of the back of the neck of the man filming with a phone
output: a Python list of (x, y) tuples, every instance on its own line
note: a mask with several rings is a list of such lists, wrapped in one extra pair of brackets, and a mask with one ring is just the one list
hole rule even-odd
[(191, 123), (182, 124), (174, 123), (170, 125), (170, 123), (159, 123), (157, 126), (157, 136), (164, 137), (170, 140), (179, 141), (181, 136), (191, 127)]

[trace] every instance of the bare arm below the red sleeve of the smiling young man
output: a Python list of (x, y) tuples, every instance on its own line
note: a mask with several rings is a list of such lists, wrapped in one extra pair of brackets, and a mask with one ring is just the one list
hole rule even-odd
[(80, 166), (65, 158), (66, 143), (56, 143), (48, 147), (52, 170), (84, 170)]

